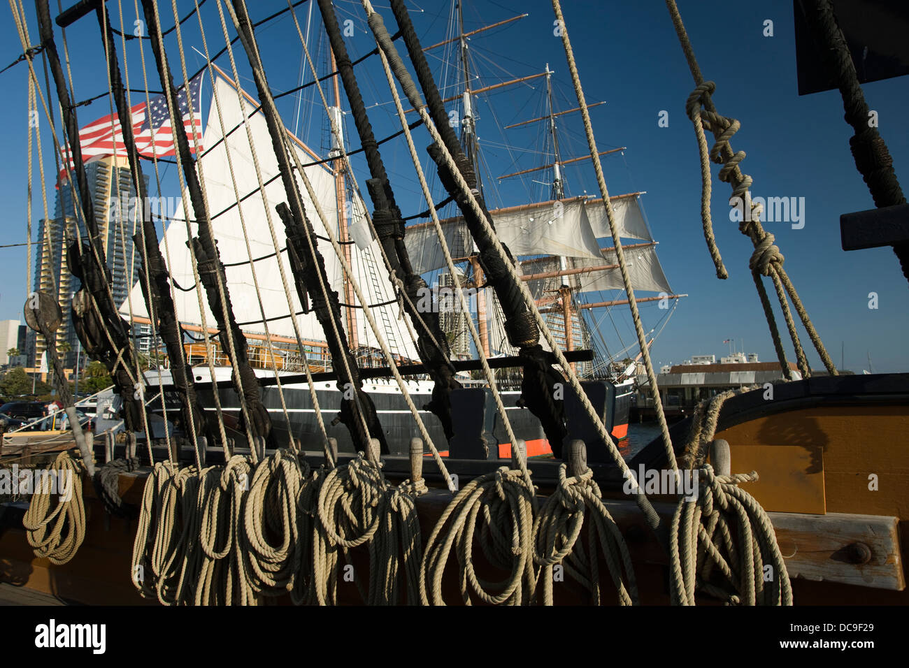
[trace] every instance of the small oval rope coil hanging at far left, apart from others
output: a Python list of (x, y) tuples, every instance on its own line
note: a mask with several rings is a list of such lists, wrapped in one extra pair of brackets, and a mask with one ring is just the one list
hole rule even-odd
[[(57, 476), (67, 478), (68, 499), (61, 494), (60, 481), (56, 491), (51, 476), (41, 477), (40, 487), (35, 485), (32, 502), (25, 511), (22, 523), (28, 537), (28, 544), (35, 548), (35, 556), (45, 557), (50, 563), (60, 565), (75, 556), (85, 540), (85, 503), (82, 499), (83, 466), (69, 453), (63, 452), (54, 460)], [(56, 503), (51, 504), (51, 496)]]

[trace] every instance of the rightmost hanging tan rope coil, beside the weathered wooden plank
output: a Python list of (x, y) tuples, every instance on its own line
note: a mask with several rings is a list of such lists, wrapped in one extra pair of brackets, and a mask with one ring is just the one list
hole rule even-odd
[[(792, 605), (792, 587), (774, 527), (740, 483), (757, 474), (700, 469), (698, 498), (681, 499), (670, 525), (670, 598), (694, 605), (694, 591), (744, 605)], [(769, 570), (767, 570), (769, 567)]]

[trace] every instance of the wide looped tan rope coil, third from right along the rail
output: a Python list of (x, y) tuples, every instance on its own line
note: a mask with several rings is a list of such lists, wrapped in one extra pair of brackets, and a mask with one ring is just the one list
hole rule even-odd
[[(420, 568), (421, 603), (445, 605), (442, 576), (455, 543), (465, 604), (472, 604), (474, 597), (494, 605), (530, 603), (536, 586), (534, 505), (534, 489), (527, 484), (524, 474), (507, 466), (464, 485), (445, 508), (426, 542)], [(487, 581), (476, 573), (475, 543), (479, 543), (488, 563), (509, 573), (504, 580)]]

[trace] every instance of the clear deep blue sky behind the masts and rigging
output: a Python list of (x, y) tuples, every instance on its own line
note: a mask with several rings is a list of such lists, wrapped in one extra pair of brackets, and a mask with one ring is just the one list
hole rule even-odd
[[(65, 5), (71, 4), (65, 2)], [(25, 3), (29, 16), (32, 43), (37, 43), (34, 6)], [(55, 12), (55, 4), (54, 9)], [(192, 8), (192, 2), (179, 0), (181, 15)], [(296, 9), (305, 25), (308, 3)], [(371, 35), (365, 33), (363, 12), (358, 2), (339, 0), (335, 3), (339, 18), (355, 21), (355, 35), (347, 39), (352, 55), (362, 55), (373, 47)], [(626, 146), (624, 155), (604, 157), (607, 184), (611, 194), (643, 190), (646, 213), (654, 237), (660, 242), (658, 253), (674, 291), (691, 296), (682, 301), (663, 335), (654, 344), (654, 362), (680, 362), (692, 354), (724, 354), (724, 339), (744, 339), (747, 352), (756, 352), (765, 361), (774, 360), (773, 345), (767, 332), (754, 284), (747, 269), (752, 246), (737, 225), (730, 222), (727, 200), (728, 184), (714, 180), (714, 231), (730, 277), (719, 281), (714, 274), (701, 233), (701, 183), (694, 130), (684, 115), (684, 101), (694, 87), (684, 62), (664, 3), (646, 2), (564, 2), (565, 18), (574, 44), (580, 75), (588, 102), (605, 101), (591, 114), (600, 150)], [(909, 293), (899, 264), (889, 248), (844, 253), (840, 247), (839, 216), (874, 206), (871, 195), (854, 167), (848, 139), (852, 134), (843, 120), (843, 105), (838, 92), (799, 97), (796, 92), (793, 7), (789, 0), (755, 3), (727, 3), (718, 0), (680, 1), (704, 76), (714, 80), (717, 90), (714, 102), (721, 114), (734, 116), (742, 123), (735, 135), (735, 150), (747, 158), (743, 170), (754, 178), (753, 192), (763, 196), (804, 197), (804, 228), (792, 229), (788, 223), (768, 223), (776, 243), (785, 255), (785, 268), (803, 297), (814, 324), (824, 339), (834, 362), (840, 363), (844, 346), (844, 368), (861, 373), (868, 368), (870, 354), (874, 371), (909, 371), (909, 353), (905, 346)], [(114, 13), (117, 4), (108, 3)], [(285, 3), (268, 0), (250, 3), (254, 20), (269, 15)], [(383, 0), (376, 8), (394, 32), (394, 18)], [(445, 38), (449, 2), (412, 0), (414, 20), (425, 44)], [(124, 3), (125, 21), (133, 25), (133, 3)], [(165, 25), (173, 25), (169, 4), (161, 5)], [(524, 76), (542, 71), (548, 63), (555, 71), (556, 105), (574, 107), (573, 91), (568, 81), (562, 43), (553, 33), (552, 6), (545, 0), (475, 0), (465, 2), (464, 23), (467, 30), (504, 20), (513, 15), (529, 16), (508, 27), (477, 35), (471, 42), (474, 60), (480, 67), (480, 85), (488, 85), (509, 75)], [(202, 10), (209, 48), (214, 52), (224, 45), (214, 2)], [(317, 15), (314, 8), (314, 15)], [(765, 37), (764, 21), (774, 22), (774, 36)], [(315, 25), (319, 25), (317, 22)], [(184, 26), (187, 65), (201, 65), (202, 59), (189, 46), (202, 50), (198, 23), (190, 19)], [(8, 9), (0, 25), (0, 66), (12, 62), (21, 53)], [(132, 30), (130, 30), (132, 32)], [(275, 92), (295, 85), (299, 76), (300, 45), (293, 22), (288, 15), (259, 30), (260, 47), (265, 59), (269, 83)], [(232, 35), (233, 36), (233, 35)], [(59, 31), (57, 31), (59, 44)], [(94, 16), (88, 16), (67, 31), (73, 57), (76, 98), (103, 93), (106, 90), (103, 51)], [(168, 37), (172, 59), (177, 57), (174, 35)], [(315, 47), (315, 37), (314, 47)], [(140, 75), (135, 41), (127, 50), (133, 87)], [(119, 49), (118, 44), (118, 49)], [(248, 75), (245, 56), (237, 45), (241, 74)], [(151, 55), (146, 48), (146, 59)], [(218, 65), (229, 71), (223, 56)], [(436, 70), (441, 67), (431, 59)], [(385, 79), (376, 69), (375, 58), (360, 66), (361, 85), (367, 105), (388, 98)], [(179, 78), (179, 77), (177, 77)], [(539, 81), (539, 80), (538, 80)], [(877, 111), (880, 131), (887, 142), (897, 176), (904, 177), (909, 165), (909, 133), (905, 131), (905, 108), (909, 88), (905, 77), (864, 86), (868, 104)], [(26, 158), (26, 66), (15, 65), (0, 75), (5, 104), (0, 109), (5, 159), (0, 162), (0, 197), (5, 203), (4, 244), (25, 241), (25, 158)], [(254, 90), (247, 78), (245, 86)], [(538, 111), (541, 89), (536, 82), (491, 95), (489, 108), (481, 101), (478, 110), (479, 134), (488, 142), (487, 160), (494, 171), (503, 174), (510, 169), (512, 158), (495, 143), (502, 141), (498, 125), (524, 120)], [(157, 88), (155, 82), (153, 87)], [(310, 89), (312, 92), (313, 89)], [(209, 94), (210, 95), (210, 94)], [(134, 104), (137, 100), (134, 100)], [(294, 127), (295, 101), (283, 98), (279, 105), (285, 123)], [(304, 98), (299, 135), (316, 150), (327, 142), (325, 125), (318, 109), (314, 111), (311, 96)], [(668, 112), (668, 127), (659, 127), (661, 111)], [(493, 113), (494, 112), (494, 113)], [(79, 109), (80, 125), (109, 113), (106, 98)], [(377, 136), (396, 129), (390, 105), (371, 111)], [(45, 116), (42, 112), (42, 137), (45, 140), (45, 165), (53, 165), (53, 153)], [(348, 122), (352, 128), (352, 124)], [(583, 136), (577, 123), (565, 120), (564, 157), (582, 155)], [(511, 132), (511, 131), (509, 131)], [(524, 134), (508, 135), (513, 145), (534, 149), (539, 137), (533, 129)], [(416, 135), (419, 145), (427, 143), (425, 133)], [(352, 145), (357, 146), (354, 138)], [(385, 163), (395, 192), (405, 214), (423, 210), (418, 197), (413, 169), (409, 165), (403, 141), (385, 145)], [(521, 158), (515, 169), (533, 165), (534, 155)], [(363, 163), (355, 160), (355, 170)], [(714, 176), (718, 167), (714, 165)], [(178, 194), (173, 169), (165, 178), (165, 194)], [(53, 180), (53, 169), (47, 166), (47, 178)], [(42, 217), (40, 194), (35, 173), (33, 215)], [(361, 182), (362, 183), (362, 182)], [(592, 170), (569, 171), (568, 183), (573, 194), (596, 190)], [(166, 184), (170, 184), (169, 186)], [(504, 183), (499, 196), (504, 205), (520, 204), (527, 198), (525, 186)], [(48, 192), (49, 206), (54, 205), (53, 185)], [(494, 202), (498, 204), (498, 202)], [(35, 225), (36, 227), (36, 225)], [(768, 288), (769, 289), (769, 288)], [(25, 248), (0, 248), (0, 319), (21, 318), (25, 299)], [(771, 291), (772, 292), (772, 291)], [(868, 308), (868, 294), (878, 294), (879, 308)], [(617, 295), (616, 295), (617, 296)], [(648, 326), (655, 324), (662, 312), (655, 306), (642, 307)], [(627, 311), (615, 309), (613, 316), (624, 344), (634, 335), (628, 324)], [(779, 318), (780, 326), (782, 319)], [(607, 343), (617, 349), (612, 325), (604, 330)], [(800, 329), (814, 368), (822, 368)], [(787, 354), (794, 360), (791, 345)]]

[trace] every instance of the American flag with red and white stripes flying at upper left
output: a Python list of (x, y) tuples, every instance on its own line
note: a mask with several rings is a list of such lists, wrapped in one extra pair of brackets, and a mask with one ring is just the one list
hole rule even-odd
[[(202, 148), (202, 105), (200, 99), (203, 74), (196, 75), (194, 79), (190, 80), (188, 99), (185, 85), (177, 89), (177, 108), (182, 115), (186, 139), (189, 140), (189, 147), (192, 151), (195, 151), (193, 143), (194, 127), (195, 139), (199, 143), (199, 148)], [(193, 105), (192, 119), (190, 119), (189, 114), (189, 105), (191, 104)], [(176, 155), (174, 132), (164, 95), (155, 95), (155, 97), (150, 98), (147, 108), (145, 102), (142, 102), (132, 107), (130, 111), (133, 117), (135, 148), (139, 155), (149, 159)], [(195, 125), (193, 123), (194, 120)], [(155, 140), (154, 146), (152, 145), (153, 137)], [(94, 123), (85, 125), (79, 131), (79, 143), (82, 145), (82, 159), (85, 163), (90, 163), (107, 155), (127, 156), (123, 140), (123, 129), (120, 127), (120, 121), (116, 114), (107, 115), (104, 118), (99, 118)], [(73, 158), (70, 155), (68, 146), (64, 146), (62, 150), (64, 152), (63, 163), (68, 165), (69, 170), (72, 171), (74, 168)], [(64, 180), (65, 171), (61, 171), (59, 181), (63, 183)]]

